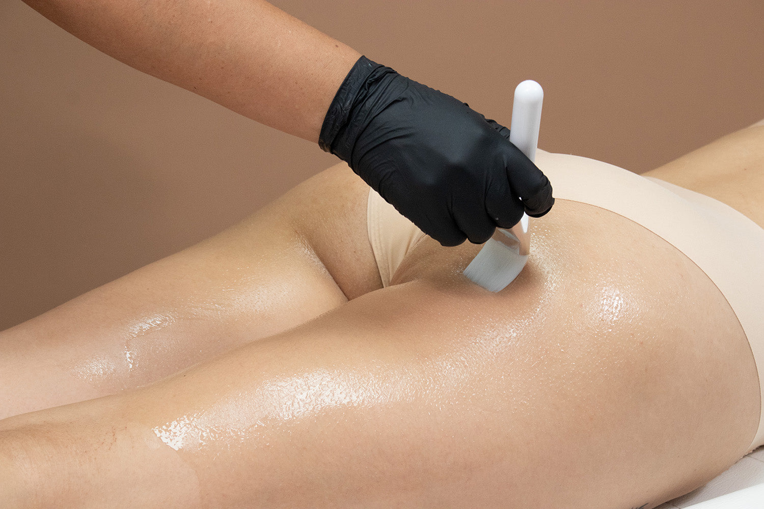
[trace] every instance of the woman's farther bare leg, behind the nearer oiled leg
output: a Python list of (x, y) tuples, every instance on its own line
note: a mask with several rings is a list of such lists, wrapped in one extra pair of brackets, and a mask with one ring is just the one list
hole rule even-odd
[(377, 275), (366, 194), (335, 166), (215, 237), (0, 333), (0, 418), (144, 385), (367, 292)]

